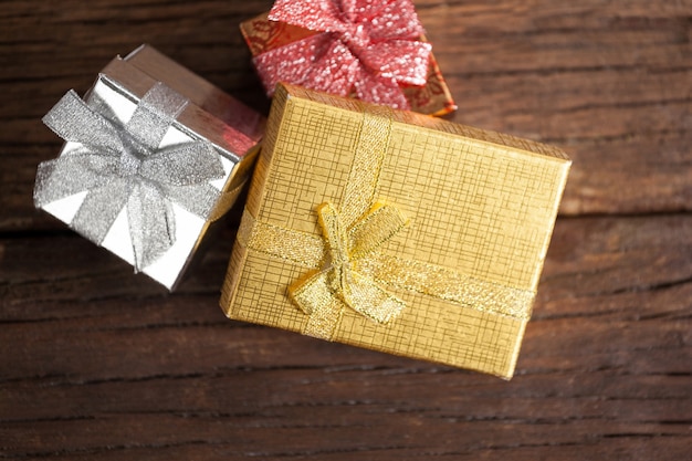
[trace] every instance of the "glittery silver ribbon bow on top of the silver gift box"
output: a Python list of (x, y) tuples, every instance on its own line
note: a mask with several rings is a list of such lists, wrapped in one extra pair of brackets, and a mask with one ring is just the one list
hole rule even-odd
[(135, 271), (151, 264), (175, 243), (172, 203), (209, 219), (221, 195), (209, 184), (224, 172), (211, 143), (196, 139), (159, 148), (187, 104), (157, 83), (123, 125), (95, 94), (87, 104), (70, 91), (43, 123), (81, 146), (39, 165), (35, 206), (86, 191), (70, 227), (98, 244), (125, 207)]

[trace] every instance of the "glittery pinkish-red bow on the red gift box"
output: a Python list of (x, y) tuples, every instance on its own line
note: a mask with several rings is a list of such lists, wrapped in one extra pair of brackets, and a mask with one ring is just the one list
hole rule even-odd
[(430, 44), (410, 0), (277, 0), (269, 19), (321, 32), (254, 59), (277, 82), (409, 108), (400, 83), (424, 85)]

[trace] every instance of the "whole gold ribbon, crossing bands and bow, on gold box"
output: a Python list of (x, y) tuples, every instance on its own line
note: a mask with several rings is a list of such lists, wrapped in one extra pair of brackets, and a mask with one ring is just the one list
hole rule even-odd
[(303, 334), (332, 339), (350, 307), (387, 324), (405, 307), (384, 286), (433, 296), (481, 312), (527, 319), (535, 293), (479, 280), (449, 268), (377, 251), (405, 226), (399, 210), (375, 200), (389, 146), (391, 117), (364, 113), (340, 207), (317, 208), (323, 237), (256, 220), (247, 209), (238, 242), (253, 251), (313, 269), (289, 287), (310, 317)]

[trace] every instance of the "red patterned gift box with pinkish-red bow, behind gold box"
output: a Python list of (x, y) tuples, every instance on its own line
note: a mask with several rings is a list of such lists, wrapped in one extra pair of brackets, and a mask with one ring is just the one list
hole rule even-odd
[(282, 81), (428, 115), (457, 109), (424, 36), (400, 39), (403, 29), (408, 34), (422, 32), (410, 2), (385, 7), (397, 7), (400, 14), (396, 17), (405, 24), (386, 31), (391, 36), (371, 31), (376, 29), (373, 24), (394, 18), (387, 17), (387, 11), (364, 19), (353, 18), (356, 13), (348, 18), (329, 0), (279, 3), (287, 2), (277, 1), (271, 13), (241, 24), (268, 95)]

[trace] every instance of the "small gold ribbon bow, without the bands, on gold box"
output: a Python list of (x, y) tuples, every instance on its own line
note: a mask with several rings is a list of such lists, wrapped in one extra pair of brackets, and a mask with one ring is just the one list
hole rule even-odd
[(293, 301), (310, 315), (304, 334), (331, 338), (346, 306), (379, 324), (396, 318), (406, 304), (358, 272), (358, 261), (406, 226), (399, 210), (376, 203), (348, 229), (329, 202), (322, 203), (317, 214), (328, 258), (321, 270), (289, 287)]

